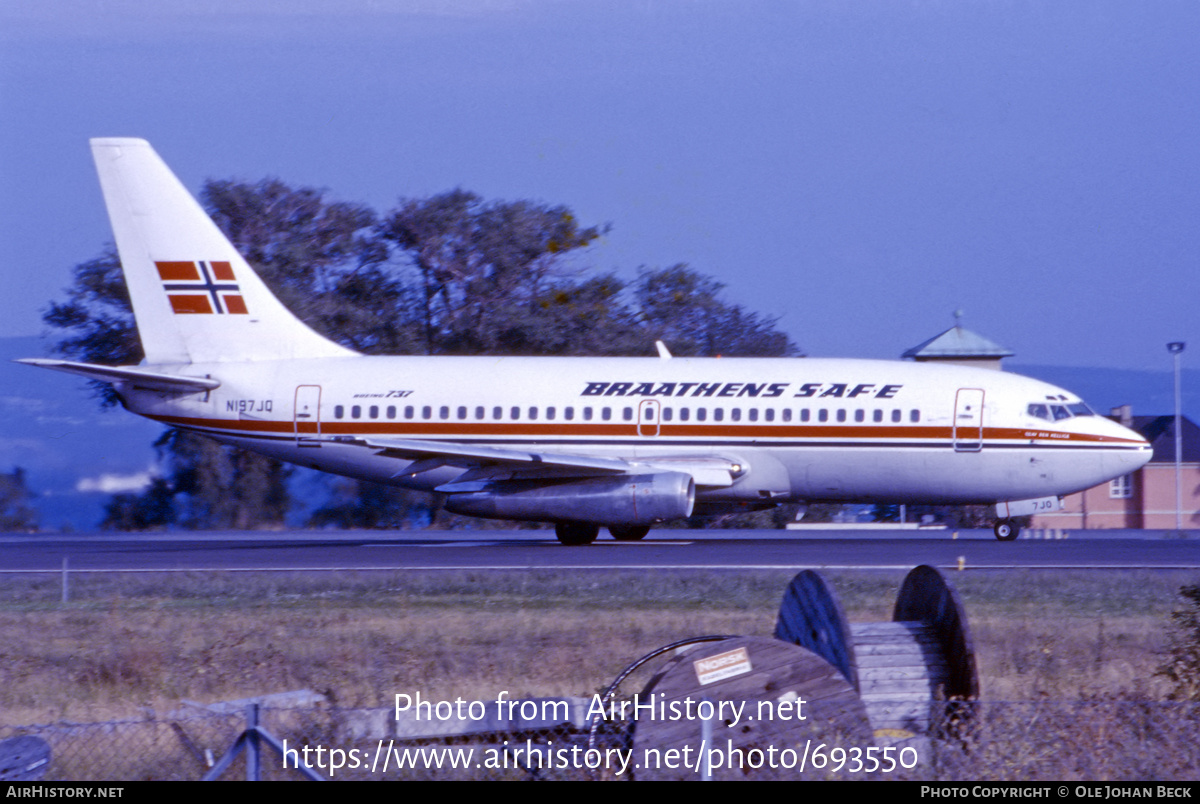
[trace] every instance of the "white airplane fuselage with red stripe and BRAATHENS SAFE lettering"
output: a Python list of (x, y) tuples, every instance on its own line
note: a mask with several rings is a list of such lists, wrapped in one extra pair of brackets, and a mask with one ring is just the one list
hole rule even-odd
[(162, 366), (220, 388), (119, 385), (136, 413), (292, 463), (434, 488), (372, 439), (739, 469), (697, 502), (995, 503), (1066, 494), (1150, 460), (1136, 433), (1046, 383), (901, 361), (349, 356)]

